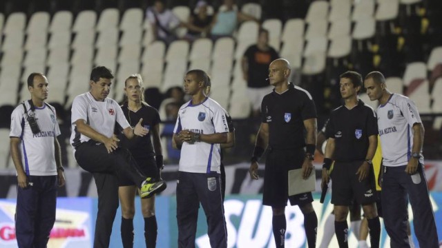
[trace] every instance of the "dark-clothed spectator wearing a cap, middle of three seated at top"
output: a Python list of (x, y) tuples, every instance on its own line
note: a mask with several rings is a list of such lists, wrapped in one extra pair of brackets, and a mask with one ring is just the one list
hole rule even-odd
[(200, 37), (206, 37), (210, 31), (213, 16), (209, 15), (206, 1), (198, 1), (195, 12), (191, 13), (189, 21), (183, 23), (187, 28), (187, 34), (184, 37), (189, 41), (194, 41)]

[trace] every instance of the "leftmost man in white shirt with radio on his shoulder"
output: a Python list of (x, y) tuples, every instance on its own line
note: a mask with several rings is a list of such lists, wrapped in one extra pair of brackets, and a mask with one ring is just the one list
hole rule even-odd
[(17, 169), (15, 234), (19, 247), (46, 247), (55, 223), (57, 187), (64, 185), (60, 129), (48, 98), (48, 79), (28, 76), (29, 101), (11, 114), (10, 147)]

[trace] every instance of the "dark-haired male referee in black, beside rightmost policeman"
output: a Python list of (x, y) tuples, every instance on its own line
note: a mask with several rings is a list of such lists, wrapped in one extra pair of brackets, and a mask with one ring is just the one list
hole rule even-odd
[(348, 247), (347, 215), (352, 200), (362, 205), (368, 220), (372, 247), (379, 247), (381, 224), (376, 210), (376, 185), (372, 158), (378, 144), (378, 125), (372, 107), (358, 100), (362, 76), (358, 72), (340, 75), (340, 94), (345, 104), (332, 111), (325, 135), (322, 185), (329, 183), (333, 160), (332, 203), (339, 247)]

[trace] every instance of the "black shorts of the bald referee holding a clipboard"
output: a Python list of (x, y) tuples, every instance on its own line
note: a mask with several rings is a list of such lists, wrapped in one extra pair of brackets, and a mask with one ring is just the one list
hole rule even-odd
[(291, 205), (305, 205), (313, 202), (311, 192), (289, 196), (289, 170), (300, 169), (305, 159), (304, 149), (269, 149), (265, 162), (264, 189), (262, 204), (271, 207), (285, 207), (287, 200)]

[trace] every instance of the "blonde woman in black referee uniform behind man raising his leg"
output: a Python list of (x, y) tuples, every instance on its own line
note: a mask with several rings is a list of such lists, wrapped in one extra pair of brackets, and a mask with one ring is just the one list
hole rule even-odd
[[(128, 149), (141, 172), (151, 178), (160, 178), (163, 167), (162, 147), (160, 140), (160, 114), (155, 108), (144, 102), (142, 78), (140, 74), (129, 76), (124, 82), (126, 101), (122, 105), (124, 116), (131, 126), (142, 119), (142, 125), (149, 130), (144, 137), (128, 140), (119, 136), (122, 147)], [(153, 140), (153, 145), (151, 142)], [(155, 152), (154, 152), (155, 151)], [(135, 192), (133, 182), (124, 176), (119, 177), (119, 202), (122, 206), (121, 235), (123, 247), (133, 247), (133, 216), (135, 216)], [(157, 242), (157, 219), (155, 218), (155, 196), (142, 198), (144, 218), (144, 238), (146, 247), (152, 248)]]

